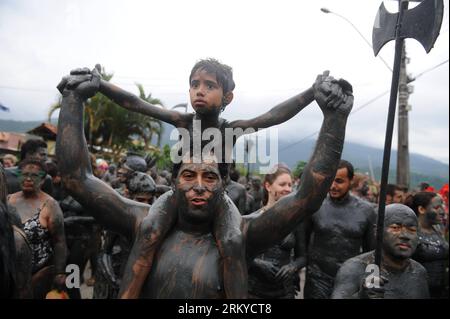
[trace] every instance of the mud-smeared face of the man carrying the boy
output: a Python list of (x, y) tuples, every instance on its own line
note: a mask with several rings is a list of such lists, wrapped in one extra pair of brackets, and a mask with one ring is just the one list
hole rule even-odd
[[(214, 205), (221, 194), (223, 185), (217, 163), (185, 163), (181, 166), (176, 182), (181, 208), (186, 208), (192, 221), (211, 220)], [(185, 207), (183, 207), (185, 205)]]

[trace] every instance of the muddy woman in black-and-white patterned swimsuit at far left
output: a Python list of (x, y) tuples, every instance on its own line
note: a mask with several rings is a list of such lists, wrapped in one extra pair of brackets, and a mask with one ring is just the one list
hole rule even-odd
[(8, 204), (21, 218), (33, 254), (33, 296), (41, 299), (52, 287), (66, 287), (64, 217), (58, 202), (40, 189), (47, 176), (42, 160), (28, 157), (19, 163), (18, 173), (22, 190), (9, 195)]

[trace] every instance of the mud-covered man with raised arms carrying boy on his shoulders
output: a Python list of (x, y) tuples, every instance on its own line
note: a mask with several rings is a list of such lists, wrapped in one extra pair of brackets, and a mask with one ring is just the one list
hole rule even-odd
[[(96, 81), (94, 77), (93, 81)], [(67, 83), (71, 83), (70, 78)], [(351, 86), (347, 83), (342, 90), (340, 83), (329, 78), (320, 81), (314, 89), (324, 119), (299, 188), (262, 216), (242, 218), (240, 230), (247, 259), (282, 240), (305, 216), (314, 213), (325, 198), (336, 174), (347, 117), (353, 105)], [(157, 248), (149, 269), (147, 252), (154, 251), (154, 247), (148, 245), (153, 242), (147, 236), (148, 230), (158, 229), (158, 225), (148, 225), (144, 217), (164, 212), (167, 207), (161, 203), (167, 201), (158, 200), (149, 211), (148, 205), (119, 196), (92, 175), (82, 120), (83, 101), (95, 93), (96, 86), (98, 83), (85, 81), (63, 90), (57, 156), (70, 193), (82, 205), (90, 207), (89, 211), (100, 223), (134, 241), (121, 297), (224, 298), (220, 264), (225, 261), (219, 254), (212, 226), (218, 211), (215, 208), (231, 205), (224, 196), (226, 164), (217, 163), (211, 157), (203, 158), (201, 163), (187, 159), (174, 167), (174, 193), (168, 192), (161, 198), (171, 196), (175, 203), (170, 203), (170, 207), (176, 207), (178, 218)], [(343, 94), (331, 94), (336, 90)]]

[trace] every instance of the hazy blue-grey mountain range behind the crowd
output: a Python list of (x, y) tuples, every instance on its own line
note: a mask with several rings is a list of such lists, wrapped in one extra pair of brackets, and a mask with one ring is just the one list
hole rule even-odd
[[(43, 121), (11, 121), (0, 120), (0, 131), (10, 132), (26, 132)], [(57, 120), (52, 120), (53, 124)], [(164, 125), (163, 136), (161, 144), (173, 145), (175, 142), (170, 141), (170, 133), (173, 129), (171, 125)], [(278, 145), (278, 161), (286, 163), (289, 167), (294, 168), (298, 161), (308, 161), (311, 156), (315, 140), (304, 140), (299, 144), (292, 145), (292, 142), (280, 138)], [(290, 146), (290, 147), (288, 147)], [(344, 145), (344, 152), (342, 158), (351, 162), (357, 170), (361, 172), (370, 173), (370, 165), (377, 180), (380, 180), (381, 166), (383, 161), (383, 150), (360, 145), (356, 143), (346, 142)], [(389, 181), (395, 183), (395, 170), (397, 167), (397, 151), (393, 150), (391, 153), (391, 172)], [(449, 165), (436, 161), (432, 158), (420, 155), (410, 154), (410, 169), (411, 169), (411, 186), (415, 187), (421, 181), (428, 181), (431, 185), (440, 188), (449, 180)]]

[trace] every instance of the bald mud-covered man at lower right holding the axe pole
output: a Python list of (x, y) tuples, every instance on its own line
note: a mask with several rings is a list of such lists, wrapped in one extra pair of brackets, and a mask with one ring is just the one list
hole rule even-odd
[(411, 256), (417, 247), (417, 216), (403, 204), (386, 206), (381, 267), (375, 252), (339, 268), (332, 299), (428, 299), (427, 272)]

